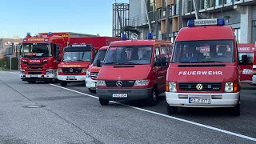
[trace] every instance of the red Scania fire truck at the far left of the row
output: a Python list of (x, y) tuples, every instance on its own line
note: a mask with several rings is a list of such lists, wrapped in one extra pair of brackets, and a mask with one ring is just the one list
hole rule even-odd
[(22, 81), (51, 82), (55, 80), (58, 62), (62, 59), (62, 51), (68, 38), (52, 33), (36, 35), (30, 33), (22, 42), (22, 58), (20, 78)]

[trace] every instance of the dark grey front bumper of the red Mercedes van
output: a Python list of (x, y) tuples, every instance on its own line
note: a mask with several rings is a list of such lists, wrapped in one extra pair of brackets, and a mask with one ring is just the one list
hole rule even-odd
[[(140, 100), (150, 98), (152, 88), (146, 89), (96, 89), (98, 98), (114, 100)], [(127, 94), (127, 98), (112, 98), (112, 94)]]

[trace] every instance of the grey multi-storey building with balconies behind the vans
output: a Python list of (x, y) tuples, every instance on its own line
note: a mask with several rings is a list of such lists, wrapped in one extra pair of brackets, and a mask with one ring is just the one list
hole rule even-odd
[(129, 6), (126, 31), (136, 32), (138, 38), (146, 38), (151, 30), (154, 38), (174, 42), (178, 30), (198, 16), (224, 18), (238, 43), (256, 41), (256, 0), (129, 0)]

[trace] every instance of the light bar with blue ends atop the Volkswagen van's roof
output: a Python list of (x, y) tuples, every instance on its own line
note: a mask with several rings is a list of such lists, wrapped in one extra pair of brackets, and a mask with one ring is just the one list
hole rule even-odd
[(189, 20), (187, 26), (224, 26), (225, 20), (222, 18), (195, 19)]

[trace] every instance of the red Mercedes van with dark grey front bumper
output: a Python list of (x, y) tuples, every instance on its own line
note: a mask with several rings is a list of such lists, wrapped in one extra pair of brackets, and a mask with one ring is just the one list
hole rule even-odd
[(102, 106), (110, 100), (146, 99), (149, 106), (155, 106), (158, 94), (165, 92), (166, 72), (170, 62), (170, 41), (132, 40), (111, 42), (98, 73), (96, 93)]

